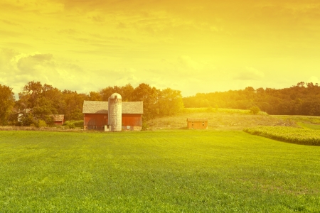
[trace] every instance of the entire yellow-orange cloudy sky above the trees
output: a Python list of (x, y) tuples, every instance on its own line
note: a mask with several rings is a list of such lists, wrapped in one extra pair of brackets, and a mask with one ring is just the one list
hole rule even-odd
[(320, 83), (319, 0), (0, 0), (0, 84), (89, 93)]

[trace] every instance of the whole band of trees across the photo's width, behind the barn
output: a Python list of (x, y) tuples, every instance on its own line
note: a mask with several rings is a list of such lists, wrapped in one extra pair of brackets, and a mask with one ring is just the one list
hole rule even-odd
[[(320, 116), (320, 87), (318, 84), (299, 82), (284, 89), (246, 87), (227, 92), (198, 93), (182, 97), (181, 91), (156, 89), (149, 84), (109, 86), (89, 94), (68, 89), (60, 90), (41, 82), (28, 82), (15, 99), (12, 88), (0, 84), (0, 125), (29, 126), (42, 120), (52, 124), (52, 114), (64, 114), (65, 120), (82, 120), (84, 100), (105, 101), (117, 92), (122, 102), (144, 102), (143, 119), (171, 116), (186, 108), (251, 109), (267, 114)], [(21, 114), (21, 121), (18, 121)]]

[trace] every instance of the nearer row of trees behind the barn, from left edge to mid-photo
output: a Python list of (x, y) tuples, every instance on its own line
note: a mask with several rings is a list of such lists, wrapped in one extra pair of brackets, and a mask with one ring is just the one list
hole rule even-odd
[(122, 95), (122, 102), (144, 102), (144, 120), (178, 114), (183, 109), (180, 91), (144, 83), (135, 88), (131, 84), (109, 86), (85, 94), (31, 81), (18, 93), (18, 100), (12, 88), (0, 84), (0, 125), (30, 126), (38, 121), (53, 124), (52, 114), (64, 114), (65, 120), (82, 120), (83, 101), (107, 102), (114, 92)]

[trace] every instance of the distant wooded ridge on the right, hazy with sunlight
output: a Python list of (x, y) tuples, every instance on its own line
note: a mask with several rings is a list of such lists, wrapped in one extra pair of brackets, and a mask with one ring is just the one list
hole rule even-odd
[(267, 114), (320, 116), (319, 84), (299, 82), (284, 89), (246, 87), (227, 92), (198, 93), (183, 98), (184, 107), (250, 109)]

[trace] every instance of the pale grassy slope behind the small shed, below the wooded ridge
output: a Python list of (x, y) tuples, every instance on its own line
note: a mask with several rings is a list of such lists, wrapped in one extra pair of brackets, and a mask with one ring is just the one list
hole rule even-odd
[(320, 129), (320, 116), (268, 115), (260, 111), (250, 114), (242, 109), (186, 108), (176, 116), (164, 116), (146, 121), (148, 130), (186, 129), (187, 118), (207, 118), (208, 129), (242, 130), (253, 126), (294, 126), (304, 129)]

